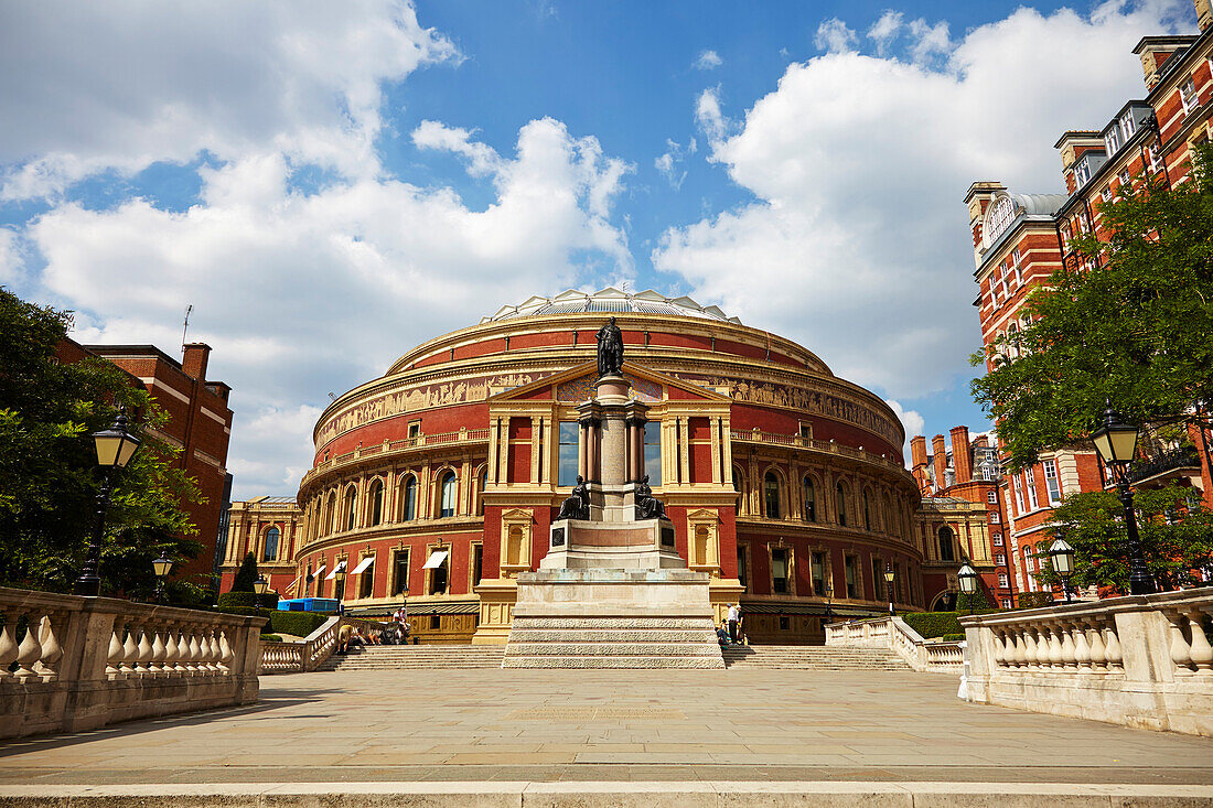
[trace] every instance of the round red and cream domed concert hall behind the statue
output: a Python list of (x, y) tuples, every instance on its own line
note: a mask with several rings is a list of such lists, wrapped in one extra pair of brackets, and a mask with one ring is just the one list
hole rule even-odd
[(714, 306), (615, 289), (507, 306), (334, 400), (294, 516), (260, 523), (285, 539), (273, 588), (368, 616), (406, 602), (423, 642), (503, 643), (517, 576), (576, 482), (576, 406), (610, 315), (649, 405), (644, 470), (718, 616), (740, 602), (751, 642), (820, 643), (827, 615), (923, 608), (893, 410)]

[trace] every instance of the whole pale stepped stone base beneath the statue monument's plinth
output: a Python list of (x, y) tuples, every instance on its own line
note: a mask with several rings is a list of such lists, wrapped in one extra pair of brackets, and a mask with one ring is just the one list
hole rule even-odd
[(501, 666), (723, 668), (712, 619), (706, 573), (522, 573)]

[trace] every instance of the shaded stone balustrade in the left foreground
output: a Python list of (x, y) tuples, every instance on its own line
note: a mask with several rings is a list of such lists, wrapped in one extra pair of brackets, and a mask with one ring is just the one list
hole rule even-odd
[(0, 587), (0, 738), (257, 700), (264, 618)]

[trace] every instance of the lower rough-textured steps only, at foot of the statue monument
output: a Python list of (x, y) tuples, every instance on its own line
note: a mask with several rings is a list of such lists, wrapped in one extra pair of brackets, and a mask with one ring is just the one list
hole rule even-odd
[(721, 668), (702, 616), (524, 616), (514, 613), (502, 667)]

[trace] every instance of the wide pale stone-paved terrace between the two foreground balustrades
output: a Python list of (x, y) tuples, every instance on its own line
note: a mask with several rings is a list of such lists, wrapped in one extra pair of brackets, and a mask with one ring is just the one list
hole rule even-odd
[(0, 745), (0, 789), (591, 780), (1213, 785), (1213, 739), (972, 705), (956, 698), (955, 677), (943, 675), (338, 671), (262, 684), (262, 701), (246, 707)]

